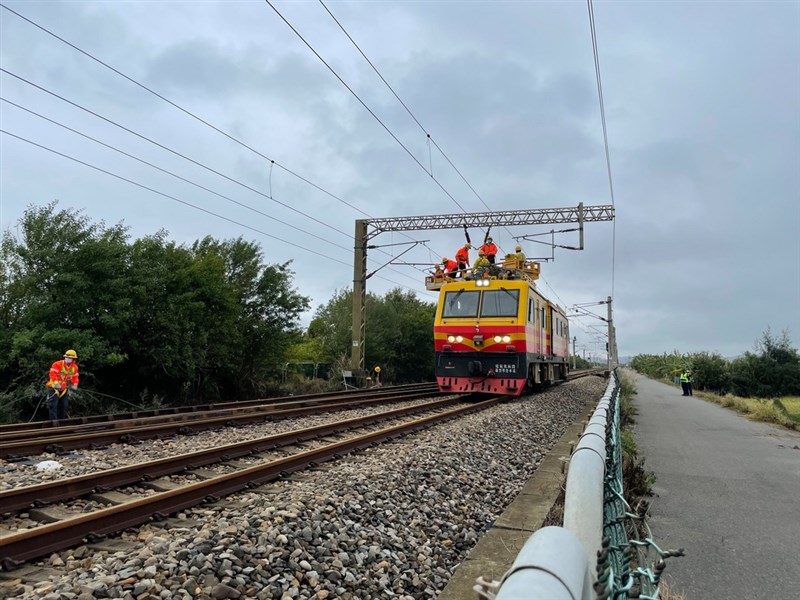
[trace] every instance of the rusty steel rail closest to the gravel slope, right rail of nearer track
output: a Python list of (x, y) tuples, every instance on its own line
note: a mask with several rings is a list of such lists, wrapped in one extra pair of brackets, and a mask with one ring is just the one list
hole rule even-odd
[(491, 398), (466, 407), (451, 409), (438, 415), (386, 427), (235, 473), (132, 500), (119, 506), (1, 537), (0, 564), (5, 569), (14, 568), (26, 560), (80, 544), (87, 536), (101, 537), (141, 525), (150, 519), (162, 518), (196, 504), (273, 481), (309, 465), (428, 427), (437, 421), (489, 408), (502, 399), (502, 397)]

